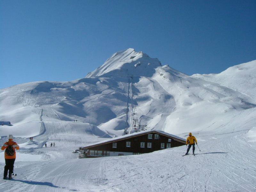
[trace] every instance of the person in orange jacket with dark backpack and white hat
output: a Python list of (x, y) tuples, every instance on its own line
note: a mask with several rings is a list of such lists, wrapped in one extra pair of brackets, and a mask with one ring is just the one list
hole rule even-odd
[(2, 146), (1, 149), (2, 150), (5, 149), (5, 152), (4, 152), (4, 159), (5, 159), (4, 179), (7, 179), (8, 170), (9, 170), (8, 179), (12, 179), (13, 166), (14, 166), (14, 161), (16, 159), (15, 149), (19, 150), (20, 146), (17, 145), (17, 143), (13, 141), (13, 136), (9, 135), (9, 140), (4, 143), (4, 145)]

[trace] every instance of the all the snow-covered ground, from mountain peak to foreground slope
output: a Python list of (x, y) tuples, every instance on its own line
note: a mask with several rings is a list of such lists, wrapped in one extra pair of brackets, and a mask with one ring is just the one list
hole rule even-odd
[[(20, 150), (17, 176), (0, 180), (0, 191), (254, 192), (255, 74), (251, 61), (187, 76), (127, 49), (83, 79), (1, 89), (0, 142), (13, 134)], [(132, 131), (133, 107), (148, 130), (182, 138), (192, 132), (201, 151), (196, 146), (195, 156), (182, 156), (184, 145), (133, 156), (78, 159), (72, 153)], [(0, 166), (3, 174), (2, 151)]]

